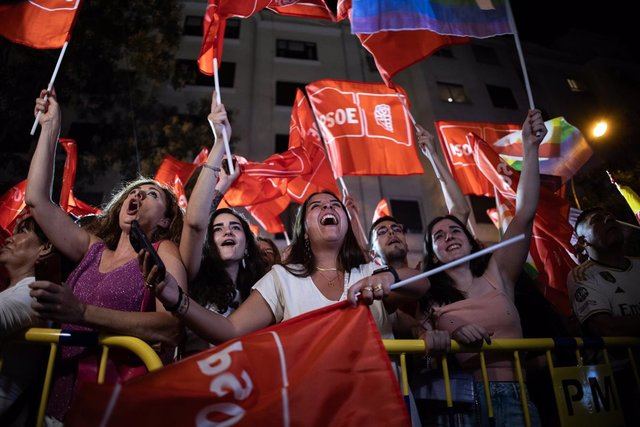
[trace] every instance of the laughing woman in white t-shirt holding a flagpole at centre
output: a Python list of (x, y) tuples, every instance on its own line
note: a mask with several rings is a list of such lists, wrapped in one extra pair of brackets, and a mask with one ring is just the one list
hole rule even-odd
[(392, 283), (415, 271), (395, 271), (368, 263), (345, 206), (330, 192), (315, 193), (300, 207), (283, 265), (274, 266), (260, 279), (228, 318), (191, 300), (171, 275), (158, 283), (155, 267), (150, 269), (149, 257), (144, 256), (141, 264), (148, 286), (156, 289), (157, 297), (191, 330), (214, 344), (345, 300), (355, 283), (359, 283), (361, 298), (371, 304), (383, 337), (392, 337), (389, 313), (402, 299), (419, 298), (428, 290), (424, 281), (404, 287), (402, 293), (389, 292)]

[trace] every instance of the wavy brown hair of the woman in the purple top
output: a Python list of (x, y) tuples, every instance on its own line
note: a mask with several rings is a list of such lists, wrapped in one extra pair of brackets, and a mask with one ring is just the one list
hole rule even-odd
[(178, 205), (178, 199), (175, 194), (156, 180), (138, 178), (135, 181), (124, 183), (122, 187), (111, 196), (111, 200), (107, 203), (102, 213), (100, 213), (95, 221), (87, 228), (88, 232), (102, 239), (105, 245), (107, 245), (107, 248), (115, 250), (116, 246), (118, 246), (120, 233), (122, 233), (119, 218), (120, 208), (122, 208), (124, 200), (131, 191), (143, 185), (154, 185), (162, 190), (165, 200), (167, 201), (167, 208), (164, 215), (171, 220), (168, 227), (158, 227), (156, 229), (153, 236), (151, 236), (151, 241), (170, 240), (176, 244), (179, 243), (180, 233), (182, 232), (182, 209), (180, 209)]

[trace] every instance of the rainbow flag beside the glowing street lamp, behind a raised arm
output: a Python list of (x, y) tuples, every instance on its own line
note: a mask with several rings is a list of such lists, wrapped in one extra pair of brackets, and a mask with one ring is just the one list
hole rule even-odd
[[(547, 136), (540, 144), (540, 173), (555, 175), (566, 182), (593, 154), (580, 130), (564, 117), (544, 122)], [(492, 148), (512, 168), (522, 169), (522, 133), (513, 132), (493, 143)]]

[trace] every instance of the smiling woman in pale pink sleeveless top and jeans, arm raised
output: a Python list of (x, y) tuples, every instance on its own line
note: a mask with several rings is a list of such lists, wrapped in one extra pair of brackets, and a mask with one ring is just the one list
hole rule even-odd
[[(514, 305), (514, 286), (529, 250), (540, 191), (538, 148), (545, 135), (540, 112), (530, 111), (522, 127), (524, 160), (516, 195), (516, 213), (503, 236), (508, 239), (524, 233), (527, 238), (494, 252), (490, 258), (476, 259), (430, 277), (431, 288), (421, 301), (424, 327), (421, 337), (431, 351), (446, 350), (450, 338), (459, 343), (478, 345), (483, 341), (490, 343), (492, 338), (522, 338), (520, 317)], [(443, 188), (448, 189), (445, 185)], [(455, 190), (459, 192), (459, 189)], [(449, 199), (456, 200), (455, 197)], [(435, 218), (428, 225), (425, 270), (480, 250), (465, 222), (466, 217), (446, 215)], [(463, 425), (488, 425), (478, 355), (458, 354), (456, 357), (461, 367), (472, 372), (476, 379), (475, 410), (458, 419)], [(509, 354), (487, 355), (497, 426), (524, 423), (512, 360)], [(535, 407), (529, 406), (533, 425), (539, 425)]]

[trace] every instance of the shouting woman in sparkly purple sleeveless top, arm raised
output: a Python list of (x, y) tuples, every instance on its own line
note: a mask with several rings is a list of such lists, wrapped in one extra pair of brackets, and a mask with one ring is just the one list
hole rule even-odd
[[(30, 285), (33, 309), (64, 328), (104, 330), (175, 345), (179, 321), (162, 304), (155, 304), (145, 289), (137, 254), (129, 242), (131, 223), (137, 220), (149, 240), (157, 242), (155, 247), (167, 272), (186, 288), (175, 244), (182, 229), (182, 211), (175, 195), (154, 180), (140, 179), (114, 195), (90, 227), (78, 227), (51, 201), (60, 108), (55, 92), (48, 94), (48, 100), (44, 99), (46, 94), (42, 91), (36, 100), (42, 130), (29, 169), (26, 203), (53, 245), (79, 265), (67, 284), (36, 281)], [(78, 347), (61, 352), (49, 407), (49, 414), (59, 420), (69, 407), (80, 358), (86, 355)]]

